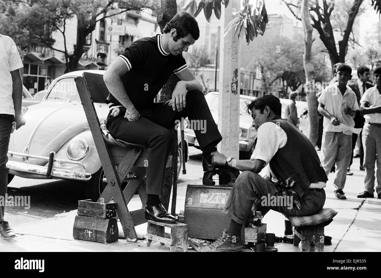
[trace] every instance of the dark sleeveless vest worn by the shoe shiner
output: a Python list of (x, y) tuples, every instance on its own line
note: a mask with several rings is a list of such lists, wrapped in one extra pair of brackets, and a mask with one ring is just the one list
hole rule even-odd
[(307, 193), (311, 183), (327, 182), (327, 175), (309, 139), (280, 116), (269, 122), (280, 126), (287, 135), (286, 145), (280, 148), (269, 162), (271, 171), (279, 182), (287, 180), (292, 175), (295, 180), (292, 188), (299, 197)]

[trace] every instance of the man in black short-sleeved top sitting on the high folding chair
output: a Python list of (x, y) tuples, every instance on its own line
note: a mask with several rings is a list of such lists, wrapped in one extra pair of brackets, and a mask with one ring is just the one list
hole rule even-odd
[[(203, 121), (195, 130), (203, 152), (203, 169), (211, 171), (212, 154), (222, 137), (202, 93), (202, 85), (186, 65), (182, 52), (199, 38), (197, 21), (179, 12), (163, 28), (162, 35), (134, 41), (109, 66), (104, 81), (110, 91), (106, 127), (117, 139), (148, 146), (146, 219), (173, 223), (160, 202), (166, 161), (172, 145), (170, 129), (178, 120)], [(154, 98), (172, 73), (181, 79), (172, 99), (154, 103)]]

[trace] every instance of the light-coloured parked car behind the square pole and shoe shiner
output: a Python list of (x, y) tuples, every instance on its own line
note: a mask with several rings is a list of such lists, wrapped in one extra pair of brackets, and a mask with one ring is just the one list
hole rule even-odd
[[(205, 95), (210, 112), (213, 119), (218, 125), (218, 92), (210, 92)], [(240, 159), (250, 159), (255, 147), (255, 140), (257, 139), (257, 131), (252, 126), (253, 119), (251, 115), (246, 112), (247, 103), (255, 100), (253, 96), (240, 95), (240, 116), (239, 116), (239, 153)], [(188, 128), (190, 126), (189, 119), (186, 118), (186, 123), (184, 123), (184, 133), (188, 139), (189, 146), (194, 146), (200, 148), (197, 142), (195, 133), (192, 129)]]

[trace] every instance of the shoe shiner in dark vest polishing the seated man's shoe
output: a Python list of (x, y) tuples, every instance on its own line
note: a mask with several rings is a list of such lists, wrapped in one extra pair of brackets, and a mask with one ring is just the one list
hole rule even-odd
[[(325, 202), (328, 178), (317, 152), (296, 126), (280, 117), (279, 98), (261, 96), (248, 104), (247, 110), (258, 131), (257, 144), (251, 160), (226, 158), (221, 153), (213, 156), (214, 163), (243, 172), (235, 180), (223, 210), (232, 219), (231, 224), (222, 237), (202, 249), (204, 252), (242, 250), (241, 229), (253, 204), (262, 215), (272, 209), (287, 216), (307, 216), (322, 210)], [(263, 178), (258, 173), (267, 164), (269, 170)], [(269, 196), (291, 202), (262, 202)]]

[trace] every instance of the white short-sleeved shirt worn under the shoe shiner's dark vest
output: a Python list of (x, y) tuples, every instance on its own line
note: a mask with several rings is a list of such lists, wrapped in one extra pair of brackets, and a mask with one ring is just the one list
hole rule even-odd
[[(257, 130), (257, 143), (250, 159), (263, 160), (267, 165), (267, 177), (271, 177), (272, 182), (277, 182), (278, 178), (271, 171), (269, 163), (275, 153), (287, 143), (287, 134), (277, 124), (266, 122), (259, 126)], [(309, 188), (324, 188), (325, 182), (311, 183)]]

